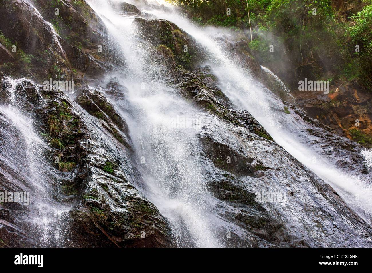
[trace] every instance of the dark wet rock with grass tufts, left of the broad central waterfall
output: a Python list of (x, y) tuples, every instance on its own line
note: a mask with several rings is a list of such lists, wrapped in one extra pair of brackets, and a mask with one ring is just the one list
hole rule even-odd
[[(2, 86), (1, 94), (9, 92), (6, 82)], [(72, 205), (65, 216), (67, 218), (55, 223), (63, 225), (64, 236), (69, 238), (60, 246), (169, 246), (171, 233), (167, 221), (136, 189), (142, 182), (140, 174), (131, 163), (129, 141), (123, 144), (122, 139), (116, 135), (123, 138), (126, 136), (126, 123), (110, 108), (108, 101), (102, 99), (99, 91), (94, 92), (92, 97), (86, 94), (88, 91), (83, 92), (81, 97), (86, 96), (86, 100), (80, 101), (99, 105), (96, 110), (106, 115), (102, 125), (96, 117), (87, 114), (61, 91), (45, 91), (28, 81), (19, 82), (15, 90), (15, 97), (8, 101), (2, 100), (2, 103), (23, 107), (33, 115), (36, 118), (34, 123), (40, 127), (37, 133), (49, 144), (48, 156), (42, 159), (47, 163), (40, 171), (46, 172), (47, 177), (58, 183), (55, 183), (54, 191), (47, 200), (51, 204), (59, 202), (61, 205)], [(6, 124), (11, 121), (6, 115), (1, 117), (1, 134), (6, 133), (4, 136), (13, 139), (19, 132), (7, 129)], [(12, 143), (1, 147), (15, 149)], [(20, 145), (15, 151), (18, 150), (24, 153), (27, 148)], [(28, 160), (25, 162), (23, 168), (28, 171)], [(33, 188), (32, 182), (28, 182), (27, 173), (18, 176), (16, 173), (24, 172), (10, 166), (13, 165), (9, 165), (6, 159), (0, 160), (1, 189), (5, 187), (8, 191), (15, 191), (21, 188), (34, 195), (37, 189)], [(18, 179), (14, 180), (17, 176)], [(4, 177), (11, 179), (7, 182)], [(34, 197), (33, 204), (37, 201)], [(17, 212), (11, 212), (8, 204), (12, 206), (13, 203), (5, 204), (6, 207), (0, 208), (3, 215), (0, 238), (4, 244), (41, 244), (38, 239), (42, 230), (23, 222)], [(36, 208), (25, 208), (24, 213), (33, 210)]]

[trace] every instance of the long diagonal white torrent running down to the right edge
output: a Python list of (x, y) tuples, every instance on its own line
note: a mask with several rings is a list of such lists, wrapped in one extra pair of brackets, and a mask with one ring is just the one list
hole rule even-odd
[[(292, 156), (311, 169), (315, 174), (335, 188), (342, 198), (359, 215), (370, 223), (372, 215), (372, 185), (359, 176), (343, 172), (322, 154), (319, 146), (308, 143), (310, 136), (306, 133), (308, 124), (297, 114), (285, 114), (282, 101), (270, 90), (260, 85), (239, 64), (233, 62), (220, 43), (212, 37), (221, 31), (212, 27), (200, 28), (186, 19), (182, 14), (165, 13), (161, 10), (146, 10), (160, 19), (167, 19), (192, 35), (206, 47), (212, 72), (217, 75), (219, 87), (237, 105), (249, 111), (273, 139), (284, 147)], [(271, 72), (271, 71), (270, 71)], [(227, 83), (231, 89), (227, 90)]]

